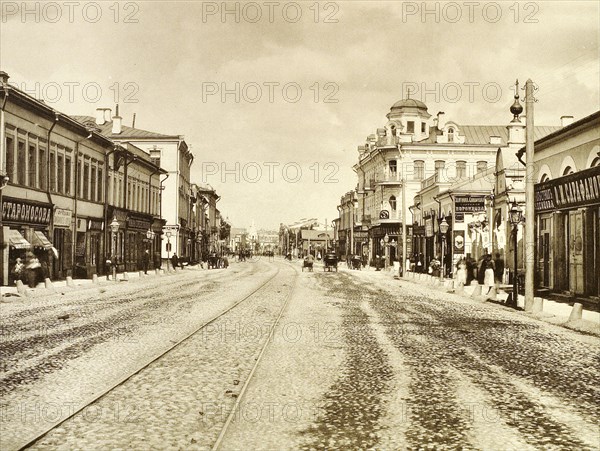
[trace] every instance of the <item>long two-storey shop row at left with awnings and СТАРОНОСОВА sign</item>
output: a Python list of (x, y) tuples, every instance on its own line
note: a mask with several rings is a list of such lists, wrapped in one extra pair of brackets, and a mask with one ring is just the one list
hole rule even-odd
[(0, 192), (2, 284), (12, 282), (10, 268), (28, 251), (51, 279), (105, 273), (113, 243), (108, 224), (118, 209), (125, 212), (119, 216), (120, 261), (123, 269), (138, 268), (141, 255), (132, 249), (148, 239), (142, 236), (159, 217), (160, 169), (139, 149), (115, 145), (97, 127), (8, 85), (6, 73), (0, 83), (0, 161), (8, 181)]

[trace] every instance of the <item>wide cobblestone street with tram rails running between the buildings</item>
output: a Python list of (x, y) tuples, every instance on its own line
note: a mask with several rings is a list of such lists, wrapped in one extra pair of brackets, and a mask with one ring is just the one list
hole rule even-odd
[(7, 298), (2, 449), (600, 449), (596, 336), (300, 266)]

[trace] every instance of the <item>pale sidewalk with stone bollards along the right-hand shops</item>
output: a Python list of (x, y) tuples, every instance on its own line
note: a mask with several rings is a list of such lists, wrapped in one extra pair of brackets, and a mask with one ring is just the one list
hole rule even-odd
[[(467, 297), (473, 299), (475, 302), (493, 302), (510, 308), (505, 305), (506, 300), (508, 298), (508, 293), (502, 290), (500, 290), (496, 294), (496, 300), (492, 300), (489, 299), (485, 294), (474, 294), (475, 290), (478, 290), (476, 285), (463, 287), (462, 294), (460, 292), (455, 293), (456, 290), (454, 288), (454, 279), (440, 280), (439, 278), (434, 278), (429, 274), (419, 274), (413, 272), (407, 273), (406, 277), (402, 277), (400, 279), (407, 282), (426, 284), (430, 288), (437, 288), (440, 291), (444, 291), (446, 293), (453, 293), (457, 296)], [(579, 332), (600, 336), (599, 312), (582, 309), (580, 318), (576, 317), (575, 319), (571, 319), (571, 314), (573, 313), (574, 307), (562, 302), (551, 301), (545, 298), (537, 299), (538, 301), (541, 300), (541, 311), (535, 313), (526, 313), (523, 311), (523, 309), (525, 308), (525, 297), (519, 295), (517, 305), (520, 309), (520, 312), (523, 315), (527, 315), (545, 321), (547, 323), (563, 326), (569, 329), (577, 330)]]

